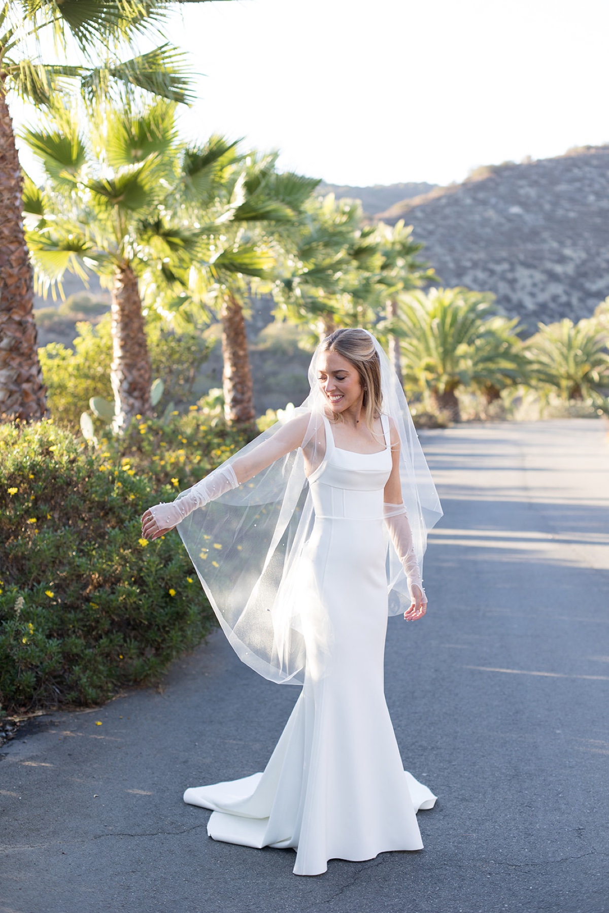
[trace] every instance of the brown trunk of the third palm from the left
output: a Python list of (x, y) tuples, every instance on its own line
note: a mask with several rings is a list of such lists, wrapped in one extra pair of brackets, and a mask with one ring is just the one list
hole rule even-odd
[(226, 292), (220, 311), (222, 321), (222, 386), (225, 396), (225, 418), (229, 425), (253, 430), (254, 387), (247, 349), (246, 319), (243, 308), (232, 292)]

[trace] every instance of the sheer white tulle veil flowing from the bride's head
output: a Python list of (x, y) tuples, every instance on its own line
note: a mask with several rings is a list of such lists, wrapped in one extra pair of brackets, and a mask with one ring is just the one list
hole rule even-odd
[[(427, 530), (442, 516), (442, 509), (402, 385), (378, 341), (370, 335), (381, 364), (383, 413), (393, 419), (400, 436), (402, 495), (421, 563)], [(308, 652), (323, 652), (331, 645), (323, 593), (316, 592), (306, 561), (314, 515), (304, 454), (312, 467), (312, 479), (323, 465), (326, 449), (326, 404), (317, 379), (320, 352), (321, 346), (310, 362), (310, 394), (304, 403), (227, 462), (264, 445), (286, 421), (309, 415), (302, 446), (249, 482), (194, 510), (178, 526), (237, 656), (272, 681), (295, 684), (304, 680)], [(411, 600), (402, 565), (388, 537), (386, 567), (389, 613), (400, 614)]]

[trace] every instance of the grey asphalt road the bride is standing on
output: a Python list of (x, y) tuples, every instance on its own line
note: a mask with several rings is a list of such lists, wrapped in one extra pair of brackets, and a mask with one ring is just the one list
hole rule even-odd
[(298, 692), (214, 635), (162, 687), (5, 745), (3, 913), (609, 911), (605, 426), (465, 425), (424, 444), (445, 518), (427, 617), (390, 621), (386, 693), (404, 766), (439, 796), (425, 850), (307, 878), (290, 850), (206, 836), (184, 787), (262, 770)]

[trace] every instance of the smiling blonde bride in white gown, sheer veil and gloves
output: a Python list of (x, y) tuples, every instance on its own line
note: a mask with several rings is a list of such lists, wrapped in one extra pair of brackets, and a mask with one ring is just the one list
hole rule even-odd
[(179, 524), (237, 655), (302, 686), (263, 773), (184, 792), (213, 810), (215, 840), (292, 847), (297, 875), (422, 848), (415, 813), (436, 796), (404, 771), (383, 650), (388, 614), (425, 615), (441, 515), (402, 387), (364, 330), (320, 344), (291, 417), (144, 513), (149, 540)]

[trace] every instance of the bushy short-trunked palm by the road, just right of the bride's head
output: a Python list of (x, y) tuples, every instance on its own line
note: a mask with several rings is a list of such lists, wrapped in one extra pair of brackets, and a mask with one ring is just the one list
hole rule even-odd
[(488, 363), (498, 329), (489, 320), (494, 310), (490, 293), (460, 288), (415, 291), (400, 303), (394, 331), (401, 338), (405, 383), (428, 395), (433, 408), (453, 421), (460, 418), (459, 386), (484, 383), (487, 377), (499, 381)]

